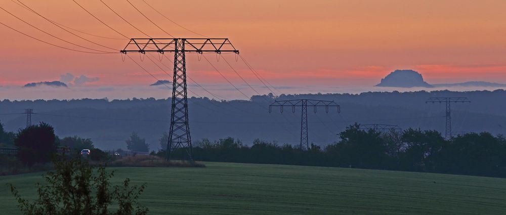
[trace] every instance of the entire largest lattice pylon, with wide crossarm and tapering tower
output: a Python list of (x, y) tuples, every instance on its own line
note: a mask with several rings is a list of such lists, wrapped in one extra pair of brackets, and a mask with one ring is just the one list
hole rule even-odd
[(185, 53), (198, 54), (239, 51), (232, 46), (228, 38), (132, 38), (126, 47), (120, 51), (129, 52), (156, 52), (163, 55), (165, 52), (174, 53), (174, 75), (172, 85), (171, 126), (168, 133), (167, 159), (171, 153), (182, 148), (193, 160), (193, 151), (188, 124), (188, 97), (186, 84)]

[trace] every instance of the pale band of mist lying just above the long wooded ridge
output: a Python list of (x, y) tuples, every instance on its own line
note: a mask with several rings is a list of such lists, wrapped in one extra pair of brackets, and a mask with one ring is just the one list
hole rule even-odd
[[(172, 87), (172, 83), (167, 84)], [(200, 84), (213, 94), (219, 95), (221, 99), (225, 100), (245, 100), (246, 98), (235, 91), (229, 84)], [(369, 87), (367, 85), (355, 85), (355, 84), (339, 84), (339, 85), (319, 85), (319, 84), (307, 84), (298, 85), (297, 87), (290, 87), (285, 85), (276, 85), (275, 88), (279, 91), (274, 91), (277, 94), (327, 94), (327, 93), (349, 93), (349, 94), (360, 94), (363, 92), (416, 92), (416, 91), (495, 91), (504, 89), (504, 87), (483, 87), (483, 86), (461, 86), (461, 85), (443, 85), (441, 87), (424, 88), (424, 87), (412, 87), (412, 88), (396, 88), (396, 87), (374, 87), (372, 83)], [(198, 88), (194, 84), (188, 84), (189, 89), (192, 92), (188, 92), (190, 97), (208, 97), (213, 98), (204, 90)], [(236, 87), (247, 95), (253, 95), (255, 92), (249, 92), (251, 89), (245, 84), (236, 84)], [(258, 89), (260, 93), (268, 94), (269, 90), (263, 85), (252, 85), (255, 89)], [(196, 94), (197, 95), (196, 95)], [(0, 99), (9, 100), (68, 100), (68, 99), (132, 99), (132, 98), (155, 98), (155, 99), (166, 99), (172, 96), (170, 89), (167, 89), (164, 85), (71, 85), (67, 88), (63, 87), (51, 87), (48, 85), (42, 85), (33, 88), (24, 88), (17, 85), (0, 85)], [(222, 98), (223, 97), (223, 98)]]

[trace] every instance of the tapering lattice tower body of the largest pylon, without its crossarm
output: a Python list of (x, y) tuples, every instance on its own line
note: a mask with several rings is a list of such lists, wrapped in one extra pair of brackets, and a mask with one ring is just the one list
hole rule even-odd
[(167, 159), (171, 153), (182, 148), (193, 159), (193, 151), (188, 124), (188, 98), (186, 90), (185, 39), (175, 41), (174, 77), (172, 89), (171, 126), (168, 133)]

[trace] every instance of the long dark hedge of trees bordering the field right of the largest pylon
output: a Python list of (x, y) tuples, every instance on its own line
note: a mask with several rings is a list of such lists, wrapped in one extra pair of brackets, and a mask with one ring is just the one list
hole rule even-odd
[[(231, 137), (202, 139), (193, 148), (202, 161), (272, 163), (420, 171), (506, 177), (506, 139), (490, 133), (470, 133), (445, 140), (437, 131), (364, 131), (358, 124), (339, 134), (340, 140), (309, 150), (255, 140), (251, 146)], [(160, 155), (163, 154), (159, 153)], [(185, 153), (173, 153), (183, 159)], [(171, 155), (172, 156), (172, 155)]]

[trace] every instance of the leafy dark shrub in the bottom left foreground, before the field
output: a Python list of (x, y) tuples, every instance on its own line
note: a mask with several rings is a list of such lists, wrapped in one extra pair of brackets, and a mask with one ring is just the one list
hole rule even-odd
[[(145, 185), (131, 186), (126, 179), (122, 186), (111, 187), (107, 173), (99, 167), (94, 174), (88, 162), (79, 159), (54, 162), (55, 170), (44, 175), (47, 185), (36, 184), (38, 198), (29, 202), (22, 198), (16, 187), (11, 192), (19, 209), (26, 215), (144, 215), (148, 208), (137, 205)], [(111, 207), (116, 211), (111, 211)]]

